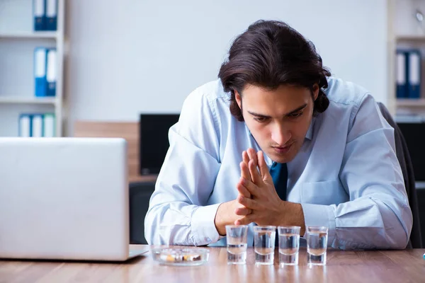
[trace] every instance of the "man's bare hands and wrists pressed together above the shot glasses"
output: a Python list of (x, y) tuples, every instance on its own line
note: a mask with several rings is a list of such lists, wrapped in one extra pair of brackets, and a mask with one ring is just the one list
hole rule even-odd
[(237, 183), (236, 200), (220, 204), (215, 226), (225, 235), (225, 225), (295, 225), (305, 231), (301, 204), (280, 200), (273, 185), (262, 151), (248, 149), (242, 153), (241, 178)]

